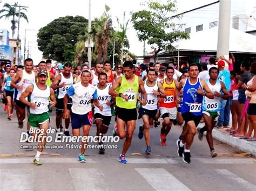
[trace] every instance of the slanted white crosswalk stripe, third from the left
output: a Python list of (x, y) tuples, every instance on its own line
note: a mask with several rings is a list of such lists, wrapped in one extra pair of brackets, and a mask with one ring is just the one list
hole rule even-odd
[(164, 168), (135, 168), (156, 190), (190, 190)]

